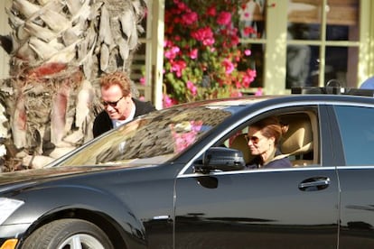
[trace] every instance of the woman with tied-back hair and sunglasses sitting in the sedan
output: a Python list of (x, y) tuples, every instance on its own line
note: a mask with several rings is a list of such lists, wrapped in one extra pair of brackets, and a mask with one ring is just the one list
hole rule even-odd
[(266, 117), (249, 125), (246, 139), (254, 159), (248, 163), (248, 169), (292, 167), (291, 161), (277, 146), (287, 128), (280, 124), (276, 116)]

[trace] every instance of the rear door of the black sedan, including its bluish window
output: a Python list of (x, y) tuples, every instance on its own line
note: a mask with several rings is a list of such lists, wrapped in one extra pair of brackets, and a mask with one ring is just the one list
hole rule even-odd
[(341, 155), (339, 248), (374, 248), (374, 106), (334, 106), (333, 112), (334, 153)]

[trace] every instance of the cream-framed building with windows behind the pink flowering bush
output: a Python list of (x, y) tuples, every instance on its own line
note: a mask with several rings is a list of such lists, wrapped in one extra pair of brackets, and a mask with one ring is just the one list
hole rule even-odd
[[(0, 34), (10, 32), (1, 1)], [(218, 2), (217, 2), (218, 3)], [(219, 3), (218, 3), (219, 4)], [(244, 92), (287, 94), (298, 86), (324, 86), (336, 79), (358, 88), (374, 75), (374, 2), (370, 0), (243, 0), (238, 9), (240, 42), (252, 51), (257, 78)], [(164, 0), (149, 0), (145, 34), (131, 77), (145, 99), (162, 107)], [(250, 34), (245, 28), (256, 32)], [(0, 51), (0, 77), (9, 75), (8, 56)]]

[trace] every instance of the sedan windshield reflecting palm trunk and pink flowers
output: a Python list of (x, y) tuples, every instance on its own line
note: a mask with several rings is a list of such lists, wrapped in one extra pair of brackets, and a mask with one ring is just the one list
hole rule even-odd
[(58, 165), (162, 163), (196, 143), (231, 111), (232, 106), (219, 105), (174, 106), (156, 111), (111, 130)]

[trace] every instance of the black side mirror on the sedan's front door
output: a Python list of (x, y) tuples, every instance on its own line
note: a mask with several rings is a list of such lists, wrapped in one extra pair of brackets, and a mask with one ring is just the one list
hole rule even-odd
[(211, 171), (240, 171), (245, 166), (243, 152), (225, 147), (211, 147), (202, 155), (202, 160), (195, 161), (193, 171), (204, 174)]

